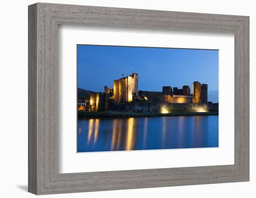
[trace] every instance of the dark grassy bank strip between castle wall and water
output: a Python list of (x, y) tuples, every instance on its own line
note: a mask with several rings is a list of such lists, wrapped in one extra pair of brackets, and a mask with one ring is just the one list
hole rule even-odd
[(77, 111), (78, 119), (83, 118), (130, 118), (130, 117), (162, 117), (162, 116), (195, 116), (219, 115), (218, 112), (174, 112), (174, 113), (139, 113), (132, 111)]

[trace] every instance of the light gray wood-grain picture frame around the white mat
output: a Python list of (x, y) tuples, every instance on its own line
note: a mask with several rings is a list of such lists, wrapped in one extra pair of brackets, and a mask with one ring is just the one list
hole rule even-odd
[[(58, 172), (58, 25), (235, 34), (235, 164)], [(74, 65), (75, 66), (75, 65)], [(28, 191), (90, 192), (249, 181), (249, 17), (37, 3), (28, 6)]]

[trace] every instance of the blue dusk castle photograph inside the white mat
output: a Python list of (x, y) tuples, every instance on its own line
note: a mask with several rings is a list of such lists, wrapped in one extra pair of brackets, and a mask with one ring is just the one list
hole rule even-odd
[(77, 45), (77, 153), (218, 147), (218, 52)]

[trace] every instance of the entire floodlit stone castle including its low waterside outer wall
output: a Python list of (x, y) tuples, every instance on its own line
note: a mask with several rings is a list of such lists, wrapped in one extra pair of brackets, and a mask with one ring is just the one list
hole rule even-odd
[[(138, 74), (133, 73), (114, 81), (114, 88), (104, 87), (104, 92), (90, 95), (89, 111), (131, 110), (135, 112), (159, 112), (162, 104), (165, 111), (209, 111), (207, 84), (193, 83), (193, 94), (184, 85), (182, 89), (163, 86), (162, 92), (138, 91)], [(198, 106), (199, 105), (199, 106)], [(201, 105), (201, 106), (200, 106)], [(207, 108), (205, 107), (207, 105)]]

